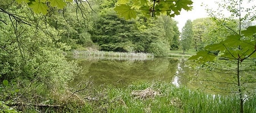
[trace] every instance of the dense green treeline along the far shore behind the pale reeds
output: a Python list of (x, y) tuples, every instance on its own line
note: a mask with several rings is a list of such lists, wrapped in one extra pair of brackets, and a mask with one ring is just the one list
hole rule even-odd
[(137, 19), (119, 18), (115, 1), (89, 1), (71, 4), (57, 15), (47, 17), (52, 28), (61, 32), (60, 41), (71, 49), (167, 54), (179, 47), (179, 29), (169, 16)]

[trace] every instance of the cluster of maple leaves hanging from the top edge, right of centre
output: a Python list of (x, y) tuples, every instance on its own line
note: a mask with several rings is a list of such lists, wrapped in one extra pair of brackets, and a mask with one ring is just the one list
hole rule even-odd
[(191, 0), (181, 1), (145, 1), (145, 0), (122, 0), (117, 2), (115, 11), (125, 19), (136, 18), (135, 11), (141, 11), (144, 16), (159, 16), (161, 14), (174, 17), (179, 15), (180, 11), (192, 10)]

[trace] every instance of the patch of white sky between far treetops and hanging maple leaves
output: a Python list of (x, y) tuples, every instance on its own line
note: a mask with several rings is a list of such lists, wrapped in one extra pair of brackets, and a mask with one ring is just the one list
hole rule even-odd
[(193, 1), (192, 11), (181, 10), (180, 15), (176, 15), (174, 18), (178, 22), (177, 26), (179, 27), (180, 32), (188, 19), (191, 19), (193, 21), (197, 18), (208, 17), (208, 14), (205, 10), (205, 5), (208, 5), (209, 8), (216, 8), (218, 6), (216, 5), (215, 2), (220, 0), (192, 0), (192, 1)]

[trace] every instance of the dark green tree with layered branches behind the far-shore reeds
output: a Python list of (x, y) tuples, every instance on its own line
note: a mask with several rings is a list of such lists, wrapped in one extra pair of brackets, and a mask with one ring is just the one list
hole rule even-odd
[(113, 5), (104, 5), (101, 5), (100, 15), (93, 23), (95, 28), (90, 31), (92, 41), (105, 51), (136, 51), (131, 40), (136, 33), (135, 21), (119, 18)]

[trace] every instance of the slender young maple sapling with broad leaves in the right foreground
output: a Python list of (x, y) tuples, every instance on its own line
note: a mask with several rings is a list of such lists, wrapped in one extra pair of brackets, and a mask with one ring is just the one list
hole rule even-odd
[[(251, 8), (242, 7), (245, 1), (225, 1), (225, 4), (220, 4), (220, 7), (226, 8), (226, 10), (232, 13), (232, 16), (239, 19), (238, 29), (229, 27), (223, 20), (237, 19), (218, 19), (218, 25), (224, 25), (233, 34), (225, 36), (224, 40), (217, 42), (216, 44), (208, 45), (204, 47), (203, 51), (198, 52), (195, 56), (192, 56), (191, 60), (203, 63), (211, 71), (230, 73), (229, 76), (224, 77), (224, 82), (218, 82), (222, 84), (232, 84), (230, 86), (233, 92), (237, 92), (240, 99), (240, 112), (243, 112), (243, 104), (245, 99), (250, 96), (255, 96), (255, 81), (256, 78), (252, 73), (255, 73), (255, 61), (256, 58), (256, 26), (247, 27), (242, 30), (242, 23), (245, 20), (254, 20), (255, 14), (251, 14), (250, 11), (255, 11), (255, 6)], [(242, 16), (245, 13), (245, 16)], [(218, 14), (220, 15), (220, 14)], [(225, 62), (224, 64), (220, 62)], [(231, 76), (231, 77), (230, 77)], [(227, 79), (229, 78), (229, 79)], [(248, 95), (250, 95), (248, 97)]]

